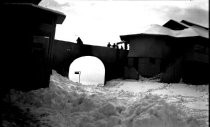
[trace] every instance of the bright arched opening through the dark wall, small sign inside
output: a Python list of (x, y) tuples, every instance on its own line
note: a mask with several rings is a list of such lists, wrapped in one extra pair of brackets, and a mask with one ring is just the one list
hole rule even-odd
[(80, 82), (84, 85), (104, 85), (104, 78), (104, 64), (94, 56), (79, 57), (69, 67), (69, 79), (74, 82)]

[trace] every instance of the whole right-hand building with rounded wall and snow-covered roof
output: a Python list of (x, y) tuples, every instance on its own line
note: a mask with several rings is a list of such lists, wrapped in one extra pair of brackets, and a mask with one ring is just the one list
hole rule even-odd
[(133, 73), (126, 72), (126, 77), (161, 74), (163, 82), (209, 83), (208, 28), (185, 22), (170, 20), (141, 34), (120, 36), (130, 45), (128, 65)]

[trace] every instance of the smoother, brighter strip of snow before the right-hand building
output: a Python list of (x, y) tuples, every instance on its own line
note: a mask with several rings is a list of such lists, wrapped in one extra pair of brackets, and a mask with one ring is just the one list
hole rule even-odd
[(188, 115), (208, 123), (209, 85), (190, 85), (184, 83), (164, 84), (152, 81), (121, 81), (108, 83), (114, 91), (128, 91), (133, 94), (157, 95), (169, 104), (177, 105)]

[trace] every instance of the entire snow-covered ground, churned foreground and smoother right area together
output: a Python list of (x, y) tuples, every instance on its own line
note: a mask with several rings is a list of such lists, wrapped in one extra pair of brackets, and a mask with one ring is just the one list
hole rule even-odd
[(2, 126), (207, 127), (208, 87), (121, 79), (87, 86), (53, 71), (49, 88), (11, 90)]

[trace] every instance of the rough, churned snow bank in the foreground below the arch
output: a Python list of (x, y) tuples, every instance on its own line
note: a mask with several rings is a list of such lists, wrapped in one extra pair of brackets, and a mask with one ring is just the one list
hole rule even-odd
[[(3, 127), (206, 126), (196, 118), (188, 117), (177, 105), (168, 104), (157, 95), (134, 95), (100, 86), (83, 86), (56, 72), (51, 76), (49, 88), (27, 93), (12, 90), (4, 101), (18, 107), (21, 113), (4, 112)], [(26, 123), (23, 116), (30, 117), (29, 122)], [(12, 119), (13, 117), (21, 119)]]

